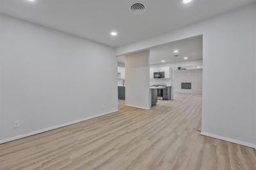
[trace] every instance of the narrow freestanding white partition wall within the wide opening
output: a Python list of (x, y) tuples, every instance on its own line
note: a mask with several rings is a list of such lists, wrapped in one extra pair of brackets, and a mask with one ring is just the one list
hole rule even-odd
[(125, 56), (125, 104), (150, 108), (149, 51)]

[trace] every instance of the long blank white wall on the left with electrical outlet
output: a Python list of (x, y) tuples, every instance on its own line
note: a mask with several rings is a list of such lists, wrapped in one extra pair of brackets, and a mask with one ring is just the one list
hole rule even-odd
[(0, 25), (0, 142), (117, 110), (115, 49), (4, 15)]

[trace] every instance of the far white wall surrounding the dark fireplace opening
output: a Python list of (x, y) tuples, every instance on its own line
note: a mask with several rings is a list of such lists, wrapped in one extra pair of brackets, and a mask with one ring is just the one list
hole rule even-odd
[[(182, 82), (191, 82), (191, 89), (181, 89)], [(179, 93), (202, 94), (203, 70), (180, 70), (174, 72), (173, 88)]]

